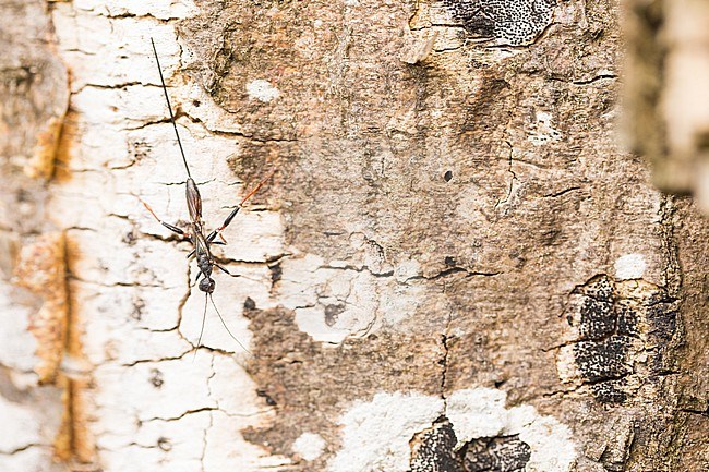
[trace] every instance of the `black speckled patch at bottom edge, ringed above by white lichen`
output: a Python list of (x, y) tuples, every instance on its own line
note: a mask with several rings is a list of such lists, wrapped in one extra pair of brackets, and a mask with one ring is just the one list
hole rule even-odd
[(417, 434), (409, 472), (522, 472), (531, 448), (515, 436), (483, 437), (455, 450), (456, 434), (442, 419)]

